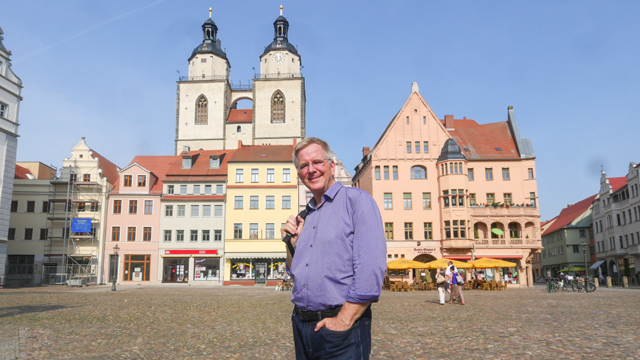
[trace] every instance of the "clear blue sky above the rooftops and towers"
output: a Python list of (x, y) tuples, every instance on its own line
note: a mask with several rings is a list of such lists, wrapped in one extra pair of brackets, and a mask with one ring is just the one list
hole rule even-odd
[(177, 71), (213, 20), (232, 81), (248, 82), (284, 5), (302, 56), (307, 135), (353, 172), (407, 100), (506, 121), (531, 138), (542, 220), (640, 161), (640, 2), (11, 1), (4, 45), (24, 82), (18, 160), (61, 166), (81, 136), (126, 166), (171, 155)]

